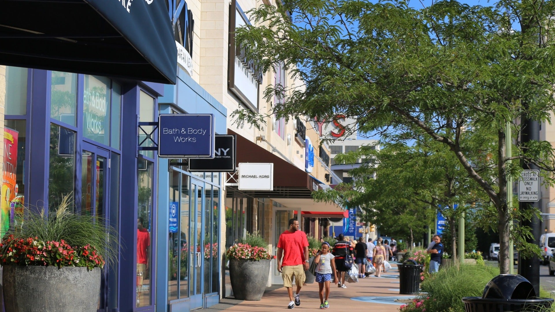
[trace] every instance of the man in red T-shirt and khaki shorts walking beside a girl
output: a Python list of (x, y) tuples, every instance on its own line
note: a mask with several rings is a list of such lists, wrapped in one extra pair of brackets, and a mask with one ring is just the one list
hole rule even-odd
[[(281, 261), (283, 256), (283, 261)], [(299, 221), (289, 220), (289, 229), (279, 235), (278, 241), (278, 271), (281, 272), (283, 285), (289, 294), (289, 306), (294, 309), (295, 305), (301, 305), (299, 291), (305, 281), (305, 270), (309, 269), (309, 241), (305, 232), (299, 230)], [(297, 291), (293, 297), (293, 277)]]

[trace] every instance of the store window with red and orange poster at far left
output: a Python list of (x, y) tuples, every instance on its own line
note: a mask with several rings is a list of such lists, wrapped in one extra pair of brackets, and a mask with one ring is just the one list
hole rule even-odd
[(18, 224), (18, 216), (22, 215), (24, 194), (24, 168), (26, 154), (26, 120), (4, 120), (4, 163), (0, 237), (10, 224)]

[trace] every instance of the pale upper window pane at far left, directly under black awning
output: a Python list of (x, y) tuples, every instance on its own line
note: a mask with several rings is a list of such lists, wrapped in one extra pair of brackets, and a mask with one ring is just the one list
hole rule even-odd
[(6, 115), (27, 113), (27, 68), (6, 67)]

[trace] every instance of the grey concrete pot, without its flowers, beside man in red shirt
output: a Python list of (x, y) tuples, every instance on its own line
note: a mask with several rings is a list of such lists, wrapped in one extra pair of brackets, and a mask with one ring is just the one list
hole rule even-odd
[(269, 275), (270, 260), (229, 260), (229, 279), (235, 299), (251, 301), (262, 299)]

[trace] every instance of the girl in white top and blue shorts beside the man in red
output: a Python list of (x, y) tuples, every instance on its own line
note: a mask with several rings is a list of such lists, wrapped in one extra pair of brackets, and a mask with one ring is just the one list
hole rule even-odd
[[(318, 287), (320, 288), (320, 309), (327, 309), (330, 307), (330, 303), (327, 301), (327, 299), (330, 297), (330, 284), (332, 276), (334, 276), (334, 284), (337, 283), (335, 256), (330, 253), (330, 244), (328, 244), (326, 241), (322, 243), (322, 246), (316, 254), (314, 261), (318, 264), (316, 268), (316, 282), (318, 283)], [(326, 288), (325, 298), (324, 287)]]

